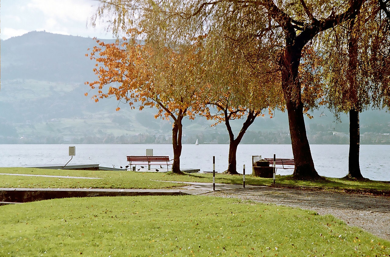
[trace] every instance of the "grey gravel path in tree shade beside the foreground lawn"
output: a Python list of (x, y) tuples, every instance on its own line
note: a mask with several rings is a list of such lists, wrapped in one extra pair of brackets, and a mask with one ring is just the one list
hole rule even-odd
[(298, 207), (321, 215), (332, 214), (348, 225), (361, 227), (390, 241), (390, 197), (269, 187), (214, 191), (207, 195)]

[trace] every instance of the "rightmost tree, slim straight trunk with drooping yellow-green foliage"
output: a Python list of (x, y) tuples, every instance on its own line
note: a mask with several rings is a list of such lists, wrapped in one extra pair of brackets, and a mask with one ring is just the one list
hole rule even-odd
[[(385, 36), (387, 22), (379, 2), (369, 0), (363, 3), (354, 19), (335, 27), (323, 37), (326, 40), (323, 47), (328, 48), (322, 56), (328, 106), (336, 116), (340, 112), (349, 114), (348, 178), (363, 179), (359, 164), (359, 113), (374, 106), (380, 87), (388, 85), (388, 71), (383, 70), (386, 65), (383, 60), (388, 60), (390, 55), (378, 51), (388, 44)], [(378, 53), (382, 63), (376, 59)]]

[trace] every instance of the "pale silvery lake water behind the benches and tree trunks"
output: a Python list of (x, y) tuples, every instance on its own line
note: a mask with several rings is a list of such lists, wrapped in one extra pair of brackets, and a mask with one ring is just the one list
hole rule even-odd
[[(0, 167), (23, 167), (31, 165), (65, 165), (70, 160), (70, 145), (0, 145)], [(76, 156), (70, 164), (100, 164), (103, 167), (127, 165), (127, 155), (145, 155), (146, 149), (153, 149), (154, 155), (169, 155), (173, 158), (172, 145), (75, 145)], [(348, 173), (349, 145), (311, 145), (317, 172), (327, 177), (344, 177)], [(227, 169), (229, 145), (183, 145), (181, 168), (213, 170), (215, 156), (216, 171)], [(293, 158), (291, 145), (239, 145), (237, 168), (242, 173), (252, 172), (252, 155), (263, 158)], [(361, 145), (360, 168), (369, 179), (390, 181), (390, 145)], [(277, 174), (292, 174), (293, 170), (280, 170)]]

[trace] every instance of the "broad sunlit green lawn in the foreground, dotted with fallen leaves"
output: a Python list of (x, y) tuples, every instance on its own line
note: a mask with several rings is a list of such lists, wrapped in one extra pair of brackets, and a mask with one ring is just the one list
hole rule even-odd
[(207, 196), (70, 198), (1, 206), (0, 227), (1, 256), (390, 254), (390, 242), (333, 216)]

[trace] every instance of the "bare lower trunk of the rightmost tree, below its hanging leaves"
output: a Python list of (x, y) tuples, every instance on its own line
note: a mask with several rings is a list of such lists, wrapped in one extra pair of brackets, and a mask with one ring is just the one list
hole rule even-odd
[(360, 151), (360, 126), (359, 112), (349, 111), (349, 156), (348, 156), (348, 175), (349, 178), (362, 179), (359, 165)]

